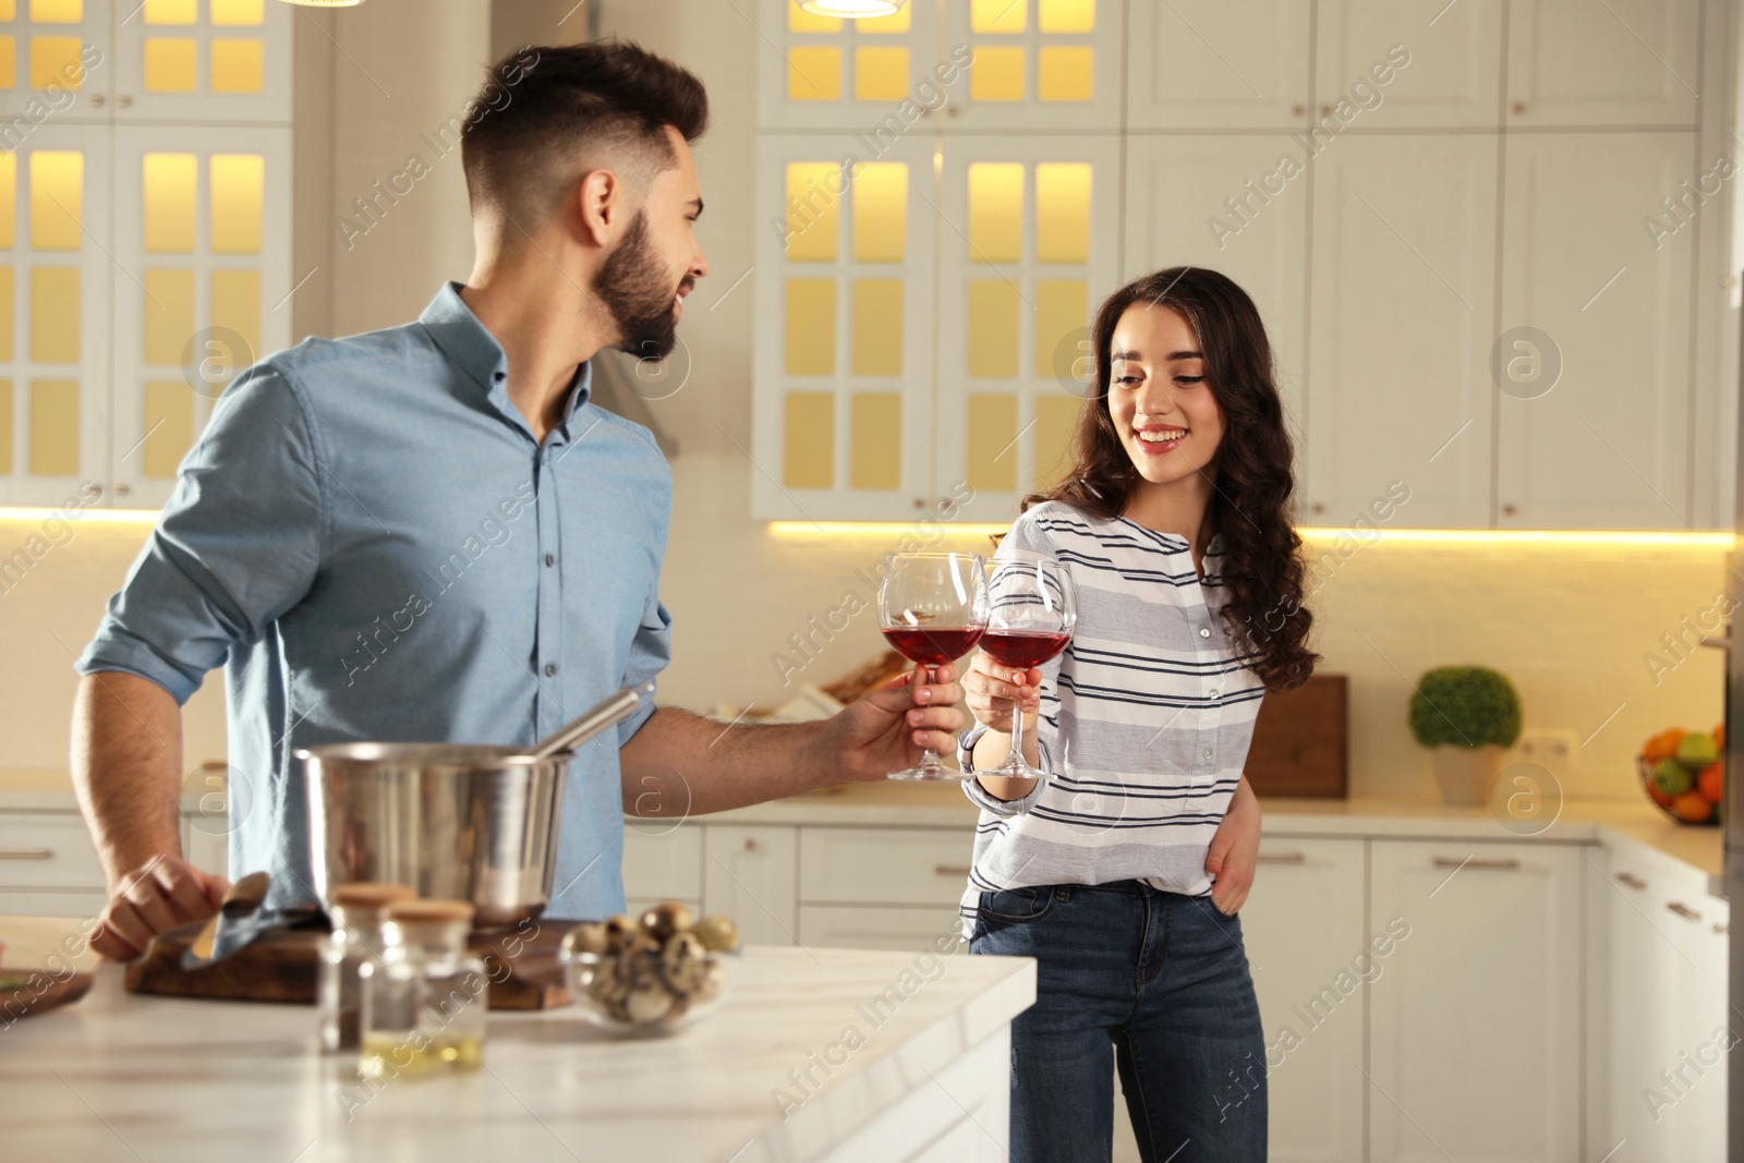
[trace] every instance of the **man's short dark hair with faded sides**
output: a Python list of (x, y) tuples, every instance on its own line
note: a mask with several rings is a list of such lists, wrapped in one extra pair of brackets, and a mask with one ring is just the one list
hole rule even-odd
[(530, 230), (602, 150), (626, 152), (633, 173), (624, 176), (647, 181), (677, 160), (666, 126), (696, 141), (708, 127), (708, 94), (633, 42), (511, 52), (490, 66), (460, 129), (473, 209), (492, 201)]

